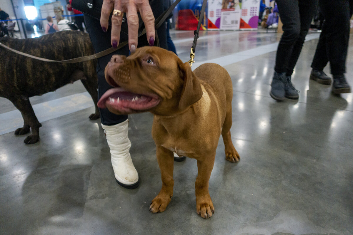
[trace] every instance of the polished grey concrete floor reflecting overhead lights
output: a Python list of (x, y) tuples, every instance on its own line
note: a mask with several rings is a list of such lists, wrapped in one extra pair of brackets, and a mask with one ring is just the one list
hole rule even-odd
[[(192, 36), (172, 31), (183, 61)], [(309, 33), (295, 68), (299, 100), (279, 103), (269, 90), (280, 34), (200, 33), (195, 67), (219, 62), (232, 77), (231, 131), (241, 156), (238, 164), (226, 161), (220, 140), (209, 182), (210, 219), (196, 214), (193, 159), (174, 163), (167, 210), (149, 212), (161, 187), (150, 113), (129, 117), (141, 184), (127, 190), (114, 180), (100, 121), (88, 119), (94, 108), (82, 110), (78, 102), (55, 112), (62, 99), (82, 98), (80, 82), (31, 98), (45, 121), (40, 142), (29, 146), (25, 136), (14, 136), (21, 123), (6, 119), (19, 113), (0, 98), (0, 234), (353, 234), (353, 94), (336, 96), (330, 86), (309, 81), (318, 36)], [(353, 41), (346, 74), (351, 85), (352, 64)], [(46, 120), (40, 110), (49, 101), (53, 116)]]

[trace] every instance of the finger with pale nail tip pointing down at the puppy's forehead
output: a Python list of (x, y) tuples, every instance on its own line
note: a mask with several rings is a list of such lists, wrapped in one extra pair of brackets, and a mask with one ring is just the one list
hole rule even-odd
[(129, 34), (129, 49), (131, 53), (133, 53), (137, 48), (138, 37), (138, 15), (136, 5), (133, 3), (129, 3), (128, 5), (126, 18)]

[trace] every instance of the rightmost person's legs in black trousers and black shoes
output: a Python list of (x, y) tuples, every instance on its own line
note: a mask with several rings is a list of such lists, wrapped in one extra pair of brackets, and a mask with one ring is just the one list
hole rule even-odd
[(334, 77), (332, 91), (336, 94), (349, 93), (351, 89), (345, 80), (346, 58), (349, 41), (349, 20), (353, 14), (353, 0), (320, 0), (325, 22), (320, 35), (311, 67), (310, 78), (321, 84), (331, 81), (322, 71), (330, 61)]

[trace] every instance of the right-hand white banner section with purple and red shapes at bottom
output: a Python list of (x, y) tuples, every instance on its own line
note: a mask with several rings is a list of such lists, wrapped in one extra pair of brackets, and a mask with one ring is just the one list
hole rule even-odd
[(261, 0), (242, 0), (240, 29), (257, 29)]

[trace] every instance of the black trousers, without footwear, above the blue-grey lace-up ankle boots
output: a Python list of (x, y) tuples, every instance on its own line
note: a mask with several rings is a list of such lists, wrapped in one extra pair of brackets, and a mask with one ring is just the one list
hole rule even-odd
[(283, 35), (277, 48), (275, 71), (293, 70), (310, 27), (317, 0), (277, 0)]

